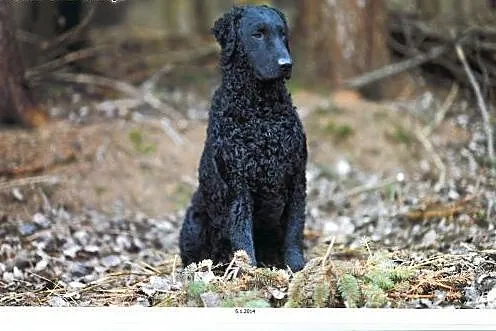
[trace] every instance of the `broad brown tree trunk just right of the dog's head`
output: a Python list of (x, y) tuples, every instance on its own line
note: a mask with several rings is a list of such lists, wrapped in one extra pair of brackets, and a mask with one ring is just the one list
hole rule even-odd
[[(301, 1), (297, 70), (331, 87), (390, 62), (387, 11), (382, 0)], [(385, 81), (384, 81), (385, 82)], [(380, 97), (384, 82), (364, 93)]]

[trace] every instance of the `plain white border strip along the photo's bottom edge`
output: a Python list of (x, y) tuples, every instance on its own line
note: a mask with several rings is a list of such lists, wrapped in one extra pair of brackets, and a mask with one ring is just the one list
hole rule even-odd
[(0, 308), (1, 330), (496, 330), (496, 311), (457, 309)]

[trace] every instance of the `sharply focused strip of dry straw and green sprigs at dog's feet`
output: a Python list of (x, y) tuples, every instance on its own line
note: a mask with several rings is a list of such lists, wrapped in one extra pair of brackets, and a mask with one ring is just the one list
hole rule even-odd
[(138, 263), (133, 271), (109, 272), (81, 288), (35, 275), (43, 288), (25, 282), (22, 290), (3, 293), (0, 305), (201, 307), (210, 295), (215, 306), (223, 307), (405, 307), (412, 300), (435, 300), (440, 292), (441, 301), (449, 304), (459, 302), (463, 288), (474, 280), (471, 261), (478, 254), (413, 260), (407, 252), (364, 255), (359, 249), (349, 258), (349, 251), (327, 249), (327, 256), (313, 258), (296, 274), (254, 268), (240, 251), (229, 265), (205, 260), (182, 268), (177, 256), (158, 266)]

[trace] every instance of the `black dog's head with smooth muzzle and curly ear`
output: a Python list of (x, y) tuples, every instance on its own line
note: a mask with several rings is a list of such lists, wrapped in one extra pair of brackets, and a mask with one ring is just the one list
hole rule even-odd
[(222, 47), (221, 64), (234, 64), (237, 51), (261, 81), (289, 79), (293, 59), (284, 14), (268, 6), (233, 7), (219, 18), (212, 33)]

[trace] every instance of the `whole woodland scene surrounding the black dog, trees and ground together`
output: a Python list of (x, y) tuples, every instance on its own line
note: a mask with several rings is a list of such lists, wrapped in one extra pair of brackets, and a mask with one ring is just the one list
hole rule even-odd
[[(280, 8), (307, 266), (182, 266), (210, 27)], [(496, 2), (0, 0), (0, 304), (496, 307)]]

